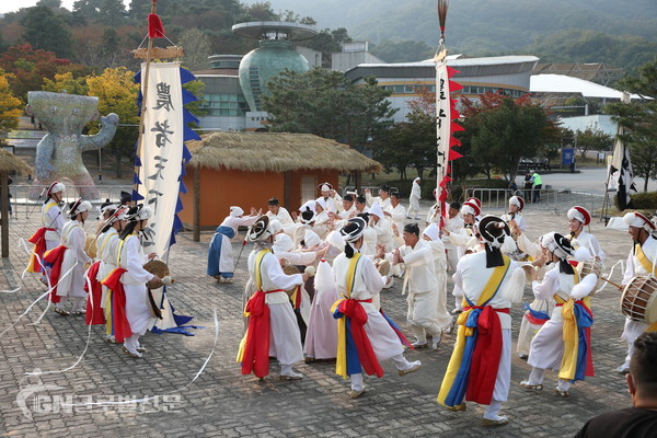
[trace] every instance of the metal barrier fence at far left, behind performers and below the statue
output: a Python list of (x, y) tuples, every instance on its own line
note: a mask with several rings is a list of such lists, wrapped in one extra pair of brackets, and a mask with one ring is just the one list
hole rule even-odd
[[(78, 199), (78, 189), (89, 187), (91, 186), (66, 185), (64, 201), (68, 204)], [(96, 185), (95, 187), (101, 196), (99, 199), (92, 200), (91, 204), (96, 208), (100, 207), (105, 199), (120, 200), (122, 192), (132, 192), (131, 185)], [(12, 184), (9, 186), (9, 193), (11, 195), (9, 203), (10, 211), (16, 218), (27, 218), (34, 211), (39, 210), (39, 207), (45, 200), (45, 195), (41, 196), (42, 187), (28, 184)]]

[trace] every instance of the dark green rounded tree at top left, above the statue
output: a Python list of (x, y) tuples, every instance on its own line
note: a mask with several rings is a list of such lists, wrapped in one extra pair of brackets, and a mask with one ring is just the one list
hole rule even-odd
[(34, 48), (54, 51), (60, 58), (71, 54), (71, 33), (64, 19), (48, 7), (34, 7), (21, 20), (23, 37)]

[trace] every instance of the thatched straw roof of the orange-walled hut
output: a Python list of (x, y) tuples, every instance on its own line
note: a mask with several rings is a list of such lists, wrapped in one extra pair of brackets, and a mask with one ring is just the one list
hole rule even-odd
[(214, 132), (191, 141), (189, 164), (243, 172), (290, 172), (332, 169), (338, 172), (381, 172), (381, 164), (347, 145), (312, 134)]

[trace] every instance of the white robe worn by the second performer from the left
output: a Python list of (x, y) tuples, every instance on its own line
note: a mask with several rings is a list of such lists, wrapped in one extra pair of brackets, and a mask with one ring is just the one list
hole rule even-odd
[(59, 297), (87, 297), (84, 291), (84, 264), (91, 263), (91, 258), (84, 252), (85, 242), (87, 233), (82, 222), (71, 220), (64, 226), (61, 244), (68, 250), (64, 253), (64, 261), (61, 262), (61, 276), (57, 286)]

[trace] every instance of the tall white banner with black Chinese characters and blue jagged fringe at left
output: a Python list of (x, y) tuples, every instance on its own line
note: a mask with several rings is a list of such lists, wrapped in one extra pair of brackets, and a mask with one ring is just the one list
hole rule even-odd
[[(180, 62), (153, 62), (146, 77), (141, 65), (141, 93), (148, 83), (139, 168), (139, 195), (153, 209), (142, 241), (145, 252), (164, 257), (169, 250), (178, 199), (183, 160), (183, 91)], [(148, 82), (147, 82), (148, 81)]]

